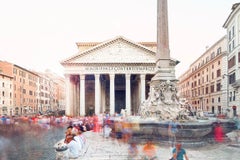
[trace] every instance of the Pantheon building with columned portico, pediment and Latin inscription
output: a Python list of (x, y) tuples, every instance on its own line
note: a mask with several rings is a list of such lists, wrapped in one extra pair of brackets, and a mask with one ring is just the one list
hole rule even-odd
[(76, 43), (78, 53), (61, 62), (66, 78), (66, 115), (138, 113), (155, 74), (156, 42), (118, 36)]

